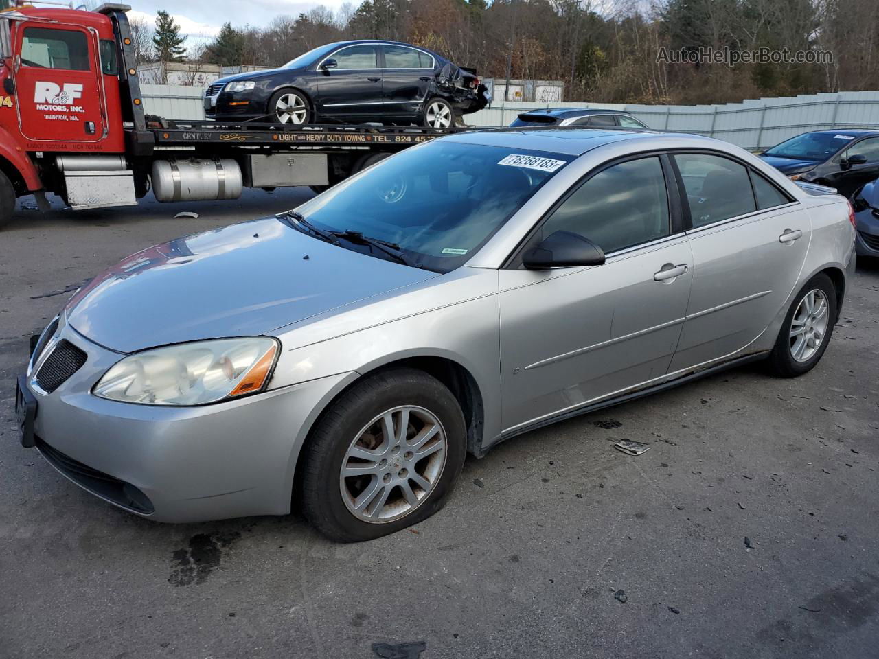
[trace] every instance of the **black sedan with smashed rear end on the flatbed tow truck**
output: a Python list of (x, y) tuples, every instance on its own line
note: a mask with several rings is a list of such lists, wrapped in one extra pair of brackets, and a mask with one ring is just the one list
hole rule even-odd
[(205, 91), (208, 119), (309, 124), (341, 121), (433, 128), (488, 103), (476, 69), (397, 41), (338, 41), (280, 69), (227, 76)]

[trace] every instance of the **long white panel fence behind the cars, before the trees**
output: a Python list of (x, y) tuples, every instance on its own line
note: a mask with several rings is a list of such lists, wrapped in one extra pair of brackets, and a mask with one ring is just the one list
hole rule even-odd
[[(146, 112), (168, 119), (202, 119), (203, 91), (197, 87), (144, 84)], [(756, 98), (726, 105), (608, 105), (553, 103), (553, 107), (625, 110), (647, 126), (678, 133), (699, 133), (744, 148), (766, 148), (810, 130), (879, 129), (879, 91), (840, 91), (788, 98)], [(508, 126), (519, 112), (545, 104), (498, 102), (465, 116), (470, 126)]]

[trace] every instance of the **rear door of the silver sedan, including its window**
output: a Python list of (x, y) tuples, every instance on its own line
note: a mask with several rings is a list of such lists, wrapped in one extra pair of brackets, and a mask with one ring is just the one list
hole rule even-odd
[(766, 330), (793, 292), (811, 232), (803, 207), (744, 164), (711, 154), (675, 160), (694, 263), (672, 372), (732, 357)]

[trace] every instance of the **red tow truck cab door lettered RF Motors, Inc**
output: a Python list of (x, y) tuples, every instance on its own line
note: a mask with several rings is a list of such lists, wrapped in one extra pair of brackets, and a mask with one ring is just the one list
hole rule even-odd
[(95, 36), (75, 25), (19, 25), (15, 86), (22, 134), (39, 141), (105, 137)]

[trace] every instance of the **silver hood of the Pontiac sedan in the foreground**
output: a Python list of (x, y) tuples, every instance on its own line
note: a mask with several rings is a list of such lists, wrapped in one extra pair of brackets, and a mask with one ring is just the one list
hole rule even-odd
[(133, 352), (267, 334), (436, 276), (324, 243), (272, 217), (137, 252), (79, 290), (65, 313), (84, 337)]

